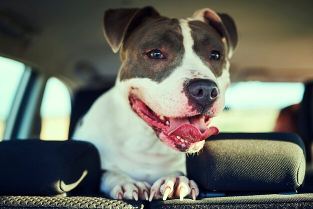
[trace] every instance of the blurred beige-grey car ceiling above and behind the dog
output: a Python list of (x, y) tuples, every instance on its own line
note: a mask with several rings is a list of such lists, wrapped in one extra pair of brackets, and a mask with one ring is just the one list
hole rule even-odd
[(145, 5), (178, 18), (204, 7), (230, 14), (239, 33), (233, 81), (313, 78), (312, 0), (0, 0), (0, 55), (70, 88), (104, 82), (120, 65), (103, 36), (104, 10)]

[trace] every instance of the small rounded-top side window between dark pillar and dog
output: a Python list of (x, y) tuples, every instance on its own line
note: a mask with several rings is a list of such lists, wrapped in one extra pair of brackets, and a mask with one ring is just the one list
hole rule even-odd
[(59, 79), (49, 78), (40, 107), (40, 139), (67, 139), (70, 111), (70, 95), (67, 87)]

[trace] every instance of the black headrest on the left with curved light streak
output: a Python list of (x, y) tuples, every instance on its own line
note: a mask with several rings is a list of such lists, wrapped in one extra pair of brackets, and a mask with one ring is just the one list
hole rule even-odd
[(74, 140), (2, 141), (0, 170), (0, 195), (96, 193), (101, 173), (97, 149)]

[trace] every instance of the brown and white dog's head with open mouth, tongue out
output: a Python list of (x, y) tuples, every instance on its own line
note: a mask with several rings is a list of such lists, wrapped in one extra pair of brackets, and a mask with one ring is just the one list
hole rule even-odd
[(230, 83), (228, 59), (237, 43), (231, 17), (208, 8), (186, 19), (150, 6), (110, 9), (103, 28), (112, 50), (121, 49), (117, 87), (165, 144), (195, 152), (218, 133), (208, 124), (224, 108)]

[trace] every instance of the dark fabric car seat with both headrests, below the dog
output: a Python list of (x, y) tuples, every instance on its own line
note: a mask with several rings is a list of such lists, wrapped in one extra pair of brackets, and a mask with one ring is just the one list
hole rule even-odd
[(296, 134), (221, 133), (187, 158), (188, 177), (201, 188), (196, 200), (148, 202), (99, 193), (99, 156), (88, 142), (3, 141), (0, 208), (309, 208), (304, 157)]

